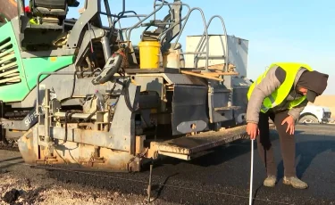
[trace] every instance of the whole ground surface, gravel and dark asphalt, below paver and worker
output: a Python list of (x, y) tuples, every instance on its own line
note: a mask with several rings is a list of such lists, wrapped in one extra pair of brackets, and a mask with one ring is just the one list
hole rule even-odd
[[(255, 144), (254, 204), (335, 204), (335, 126), (299, 125), (297, 176), (309, 184), (282, 184), (281, 146), (272, 132), (279, 168), (274, 188), (263, 186)], [(159, 160), (151, 204), (248, 204), (250, 141), (221, 146), (201, 158)], [(0, 151), (1, 204), (147, 204), (149, 171), (102, 173), (30, 168), (15, 151)]]

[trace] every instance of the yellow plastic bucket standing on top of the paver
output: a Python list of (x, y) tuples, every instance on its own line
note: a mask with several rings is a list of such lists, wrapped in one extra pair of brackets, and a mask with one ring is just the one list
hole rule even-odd
[(161, 44), (157, 41), (141, 41), (139, 48), (139, 69), (159, 69)]

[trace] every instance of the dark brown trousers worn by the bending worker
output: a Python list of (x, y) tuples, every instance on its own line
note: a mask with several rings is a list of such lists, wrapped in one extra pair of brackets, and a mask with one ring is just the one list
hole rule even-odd
[(296, 176), (295, 157), (296, 144), (294, 135), (286, 133), (287, 123), (281, 125), (282, 121), (289, 116), (288, 111), (279, 113), (260, 113), (258, 127), (260, 135), (257, 138), (257, 149), (264, 162), (267, 175), (277, 176), (277, 168), (274, 162), (272, 144), (270, 142), (269, 118), (272, 119), (280, 135), (281, 156), (284, 162), (284, 175)]

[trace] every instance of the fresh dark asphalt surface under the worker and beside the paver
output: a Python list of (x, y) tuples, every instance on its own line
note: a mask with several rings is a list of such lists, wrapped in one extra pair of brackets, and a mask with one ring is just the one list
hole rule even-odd
[[(281, 147), (273, 131), (272, 145), (280, 179), (274, 188), (263, 186), (264, 166), (255, 143), (254, 204), (335, 204), (335, 126), (299, 125), (296, 142), (297, 176), (309, 184), (309, 188), (297, 190), (282, 184)], [(192, 161), (172, 158), (157, 161), (152, 196), (181, 204), (248, 204), (249, 175), (250, 141), (246, 140), (219, 147)], [(147, 194), (148, 176), (148, 168), (132, 174), (61, 170), (50, 170), (47, 174), (65, 184), (143, 195)]]

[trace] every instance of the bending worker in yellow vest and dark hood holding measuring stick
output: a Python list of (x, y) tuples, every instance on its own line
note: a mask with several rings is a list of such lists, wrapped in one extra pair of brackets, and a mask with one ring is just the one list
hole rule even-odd
[(306, 64), (273, 63), (249, 87), (247, 134), (251, 140), (256, 138), (257, 149), (267, 174), (265, 186), (273, 187), (277, 181), (277, 168), (269, 133), (269, 119), (272, 119), (280, 136), (284, 164), (283, 184), (298, 189), (308, 187), (296, 175), (295, 122), (306, 104), (314, 102), (323, 93), (328, 78), (329, 75), (312, 70)]

